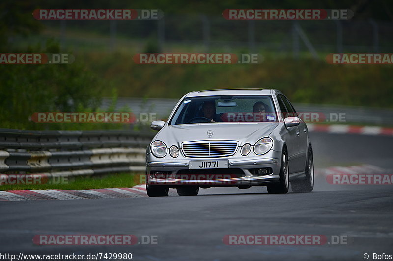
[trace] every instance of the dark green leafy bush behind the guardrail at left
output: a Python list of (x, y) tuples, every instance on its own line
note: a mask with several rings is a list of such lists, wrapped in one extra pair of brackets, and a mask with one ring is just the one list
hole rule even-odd
[[(49, 41), (45, 50), (30, 52), (59, 53), (58, 44)], [(117, 93), (109, 81), (100, 79), (78, 59), (66, 65), (1, 65), (1, 128), (30, 130), (118, 129), (112, 123), (35, 123), (35, 112), (102, 112), (102, 92), (111, 89), (114, 112)], [(129, 111), (123, 108), (122, 111)]]

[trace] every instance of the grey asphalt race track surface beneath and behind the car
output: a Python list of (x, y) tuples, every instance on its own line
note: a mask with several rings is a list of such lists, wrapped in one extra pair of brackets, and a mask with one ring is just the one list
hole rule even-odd
[[(392, 137), (312, 133), (315, 167), (393, 169)], [(365, 260), (393, 255), (393, 186), (317, 180), (312, 193), (201, 190), (195, 197), (0, 202), (0, 253), (132, 253), (132, 260)], [(330, 187), (329, 187), (330, 186)], [(353, 186), (357, 190), (353, 190)], [(329, 187), (329, 188), (328, 188)], [(171, 195), (174, 193), (171, 192)], [(37, 246), (34, 235), (157, 236), (158, 244)], [(342, 236), (340, 245), (226, 245), (225, 235)], [(103, 259), (104, 260), (104, 259)]]

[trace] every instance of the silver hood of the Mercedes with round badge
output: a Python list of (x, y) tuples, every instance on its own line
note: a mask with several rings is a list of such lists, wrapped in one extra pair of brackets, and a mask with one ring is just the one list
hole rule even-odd
[[(165, 126), (156, 136), (167, 146), (180, 146), (182, 142), (200, 140), (234, 140), (239, 144), (257, 142), (269, 136), (277, 122), (263, 123), (200, 123)], [(208, 131), (213, 132), (208, 135)], [(211, 136), (211, 137), (209, 137)]]

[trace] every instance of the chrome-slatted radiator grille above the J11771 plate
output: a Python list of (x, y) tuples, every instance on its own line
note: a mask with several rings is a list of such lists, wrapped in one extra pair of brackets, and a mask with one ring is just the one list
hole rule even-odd
[(188, 157), (231, 156), (237, 148), (236, 142), (195, 142), (183, 144), (183, 152)]

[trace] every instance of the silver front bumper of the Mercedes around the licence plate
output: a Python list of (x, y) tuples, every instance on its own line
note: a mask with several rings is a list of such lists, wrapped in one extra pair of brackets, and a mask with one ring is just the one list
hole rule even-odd
[[(189, 169), (192, 160), (228, 160), (228, 168), (203, 169), (202, 171)], [(279, 181), (281, 166), (281, 151), (270, 150), (267, 154), (258, 156), (233, 155), (220, 158), (186, 158), (179, 156), (172, 158), (156, 158), (153, 154), (146, 155), (146, 183), (148, 185), (162, 185), (170, 188), (181, 186), (208, 187), (250, 187), (265, 186)], [(255, 169), (269, 169), (269, 174), (258, 175)], [(156, 177), (156, 172), (164, 173), (165, 177)], [(187, 173), (187, 174), (185, 174)], [(208, 173), (208, 174), (207, 174)]]

